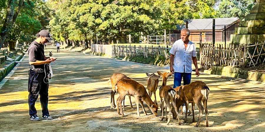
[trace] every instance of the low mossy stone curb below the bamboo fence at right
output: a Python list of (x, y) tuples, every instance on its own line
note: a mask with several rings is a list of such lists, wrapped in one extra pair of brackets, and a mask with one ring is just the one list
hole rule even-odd
[(228, 77), (242, 78), (253, 81), (265, 82), (265, 73), (251, 72), (248, 70), (242, 70), (236, 67), (221, 67), (212, 66), (211, 70), (204, 70), (204, 73), (213, 75), (223, 75)]

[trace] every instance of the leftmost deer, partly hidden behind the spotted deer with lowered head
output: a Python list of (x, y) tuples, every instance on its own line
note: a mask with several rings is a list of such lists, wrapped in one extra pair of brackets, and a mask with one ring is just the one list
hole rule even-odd
[[(112, 109), (114, 109), (116, 107), (115, 101), (114, 101), (114, 95), (116, 93), (115, 84), (117, 84), (117, 82), (119, 82), (121, 79), (130, 79), (130, 77), (127, 77), (127, 76), (125, 76), (122, 73), (115, 73), (115, 74), (113, 74), (110, 77), (110, 79), (108, 81), (108, 82), (111, 82), (111, 85), (112, 85), (112, 90), (110, 92), (110, 107)], [(129, 100), (130, 100), (131, 109), (133, 109), (133, 107), (132, 107), (132, 101), (131, 101), (131, 97), (130, 96), (129, 96)], [(113, 104), (112, 104), (112, 101), (113, 101)], [(125, 110), (124, 100), (123, 100), (123, 109)]]

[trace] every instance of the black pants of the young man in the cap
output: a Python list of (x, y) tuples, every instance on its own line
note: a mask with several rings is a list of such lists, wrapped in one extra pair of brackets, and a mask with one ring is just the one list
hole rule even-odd
[[(48, 88), (49, 83), (44, 83), (44, 72), (34, 72), (33, 70), (29, 71), (29, 82), (28, 82), (28, 91), (29, 91), (29, 115), (37, 114), (35, 108), (35, 102), (37, 101), (40, 95), (40, 103), (42, 106), (42, 115), (48, 115)], [(46, 80), (45, 80), (46, 81)], [(46, 81), (47, 82), (47, 81)]]

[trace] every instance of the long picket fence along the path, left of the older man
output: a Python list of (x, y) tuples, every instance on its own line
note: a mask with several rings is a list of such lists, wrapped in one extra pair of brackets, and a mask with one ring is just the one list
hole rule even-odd
[(156, 55), (165, 56), (169, 58), (170, 48), (158, 46), (131, 46), (131, 45), (99, 45), (92, 44), (91, 52), (105, 53), (110, 57), (124, 58), (126, 56), (136, 57), (144, 56), (145, 58), (155, 57)]

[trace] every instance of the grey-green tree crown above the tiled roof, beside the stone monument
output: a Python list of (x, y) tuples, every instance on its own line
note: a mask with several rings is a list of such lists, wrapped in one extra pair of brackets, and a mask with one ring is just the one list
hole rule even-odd
[(239, 17), (243, 19), (255, 3), (256, 0), (222, 0), (217, 13), (221, 18)]

